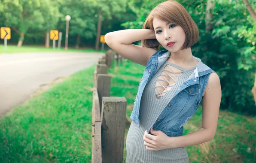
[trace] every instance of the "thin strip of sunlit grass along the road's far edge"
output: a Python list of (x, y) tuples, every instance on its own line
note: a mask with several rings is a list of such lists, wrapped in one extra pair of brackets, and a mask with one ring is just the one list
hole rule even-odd
[(26, 53), (26, 52), (58, 52), (58, 51), (69, 51), (69, 52), (106, 52), (106, 51), (95, 51), (93, 49), (76, 49), (76, 48), (68, 48), (65, 50), (63, 47), (58, 49), (45, 48), (43, 46), (22, 46), (17, 47), (17, 45), (7, 45), (7, 50), (4, 49), (4, 45), (0, 45), (0, 54), (8, 54), (8, 53)]

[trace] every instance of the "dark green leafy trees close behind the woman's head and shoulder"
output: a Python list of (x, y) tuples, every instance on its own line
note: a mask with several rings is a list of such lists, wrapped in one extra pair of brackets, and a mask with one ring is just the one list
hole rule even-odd
[[(239, 3), (238, 3), (239, 1)], [(134, 9), (138, 18), (122, 26), (141, 28), (146, 16), (162, 0), (144, 0)], [(220, 77), (224, 109), (256, 114), (251, 88), (256, 70), (256, 24), (242, 0), (215, 0), (213, 30), (205, 30), (207, 0), (178, 0), (199, 28), (199, 41), (192, 46), (193, 55), (200, 57)], [(256, 3), (250, 1), (252, 7)]]

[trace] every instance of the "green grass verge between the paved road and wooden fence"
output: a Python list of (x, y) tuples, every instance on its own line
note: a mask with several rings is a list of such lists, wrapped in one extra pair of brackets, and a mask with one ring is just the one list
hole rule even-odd
[(91, 160), (94, 67), (31, 98), (0, 119), (0, 163)]

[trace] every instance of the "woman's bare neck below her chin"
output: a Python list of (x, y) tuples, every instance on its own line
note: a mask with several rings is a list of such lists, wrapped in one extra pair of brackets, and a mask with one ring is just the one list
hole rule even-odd
[(191, 63), (195, 60), (190, 47), (171, 53), (169, 59), (174, 63)]

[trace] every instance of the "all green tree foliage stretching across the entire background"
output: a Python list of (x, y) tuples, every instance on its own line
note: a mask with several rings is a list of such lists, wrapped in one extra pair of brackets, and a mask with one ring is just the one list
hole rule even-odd
[[(163, 0), (2, 0), (0, 26), (26, 33), (24, 44), (44, 44), (49, 30), (66, 30), (65, 15), (70, 15), (69, 45), (93, 46), (97, 34), (99, 9), (101, 34), (125, 28), (141, 28), (147, 15)], [(242, 0), (214, 0), (213, 29), (206, 28), (207, 0), (177, 0), (192, 16), (200, 38), (192, 52), (216, 71), (222, 85), (222, 108), (256, 113), (250, 92), (256, 71), (256, 23)], [(256, 2), (249, 0), (253, 9)], [(62, 45), (64, 43), (62, 39)], [(0, 40), (3, 42), (3, 40)], [(80, 43), (81, 42), (81, 43)], [(140, 42), (137, 42), (138, 44)]]

